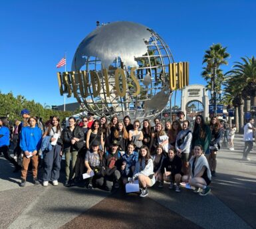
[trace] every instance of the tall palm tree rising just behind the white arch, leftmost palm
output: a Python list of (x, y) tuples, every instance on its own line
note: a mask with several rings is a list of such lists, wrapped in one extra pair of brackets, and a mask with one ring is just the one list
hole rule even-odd
[(205, 54), (203, 56), (203, 64), (206, 64), (203, 67), (203, 72), (201, 76), (207, 82), (207, 88), (211, 88), (213, 91), (213, 101), (216, 103), (217, 99), (217, 90), (221, 89), (221, 84), (224, 81), (223, 72), (220, 69), (222, 64), (227, 65), (227, 58), (230, 56), (229, 53), (226, 52), (227, 47), (221, 46), (221, 44), (212, 44), (209, 47), (209, 50), (205, 50)]

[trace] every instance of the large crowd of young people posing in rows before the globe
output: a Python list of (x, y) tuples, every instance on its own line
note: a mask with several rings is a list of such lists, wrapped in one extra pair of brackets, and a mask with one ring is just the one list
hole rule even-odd
[[(23, 153), (21, 187), (27, 179), (29, 163), (32, 163), (33, 183), (37, 177), (39, 159), (43, 160), (43, 186), (58, 185), (61, 160), (65, 157), (64, 186), (70, 187), (82, 180), (82, 175), (94, 175), (86, 179), (86, 188), (96, 187), (111, 191), (125, 187), (126, 183), (138, 180), (140, 196), (148, 195), (148, 187), (156, 184), (180, 192), (180, 185), (194, 187), (193, 192), (208, 194), (211, 176), (215, 176), (216, 156), (222, 127), (218, 118), (211, 117), (207, 125), (203, 116), (197, 115), (193, 129), (190, 121), (179, 112), (179, 119), (162, 123), (149, 119), (131, 123), (129, 116), (118, 120), (113, 116), (110, 123), (106, 117), (94, 119), (93, 114), (76, 121), (68, 118), (68, 126), (62, 128), (59, 117), (53, 116), (42, 131), (37, 117), (21, 112), (19, 147)], [(9, 133), (6, 117), (0, 117), (0, 151), (9, 157)], [(142, 125), (142, 126), (141, 126)]]

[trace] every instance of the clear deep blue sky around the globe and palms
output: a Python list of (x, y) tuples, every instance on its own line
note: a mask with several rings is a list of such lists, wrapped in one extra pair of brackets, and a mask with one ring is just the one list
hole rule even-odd
[(256, 54), (255, 14), (253, 0), (2, 1), (0, 91), (42, 105), (63, 104), (56, 64), (66, 52), (70, 70), (78, 44), (96, 28), (96, 21), (133, 21), (154, 29), (176, 62), (190, 62), (190, 84), (205, 84), (200, 76), (202, 58), (211, 44), (220, 42), (231, 54), (224, 72), (242, 56)]

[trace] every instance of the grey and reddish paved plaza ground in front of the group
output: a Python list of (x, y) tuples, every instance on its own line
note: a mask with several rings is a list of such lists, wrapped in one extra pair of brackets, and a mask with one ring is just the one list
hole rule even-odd
[[(235, 151), (221, 149), (211, 193), (199, 196), (189, 189), (176, 193), (149, 189), (138, 194), (110, 193), (84, 187), (19, 187), (20, 174), (0, 158), (0, 228), (256, 228), (256, 147), (251, 161), (242, 161), (243, 141)], [(61, 178), (64, 179), (62, 171)]]

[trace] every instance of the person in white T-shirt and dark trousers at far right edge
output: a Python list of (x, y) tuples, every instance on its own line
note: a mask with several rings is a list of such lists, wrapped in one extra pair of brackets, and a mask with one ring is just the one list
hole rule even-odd
[(242, 159), (245, 161), (251, 161), (249, 159), (248, 154), (253, 149), (253, 131), (256, 131), (256, 128), (253, 127), (254, 119), (249, 118), (248, 123), (244, 127), (243, 132), (243, 141), (245, 141), (245, 147), (243, 149), (243, 157)]

